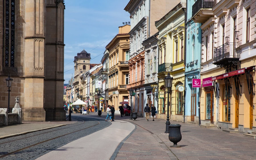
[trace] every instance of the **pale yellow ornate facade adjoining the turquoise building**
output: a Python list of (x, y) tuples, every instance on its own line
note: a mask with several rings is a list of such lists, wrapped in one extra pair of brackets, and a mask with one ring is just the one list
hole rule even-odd
[(174, 78), (170, 95), (170, 119), (183, 120), (183, 93), (177, 91), (177, 86), (184, 85), (184, 3), (179, 3), (174, 9), (156, 22), (159, 30), (158, 41), (158, 118), (166, 119), (167, 88), (164, 78), (168, 73)]

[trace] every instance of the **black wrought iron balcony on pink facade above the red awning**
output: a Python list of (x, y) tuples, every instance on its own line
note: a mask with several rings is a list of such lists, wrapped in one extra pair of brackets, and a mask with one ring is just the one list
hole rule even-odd
[(224, 67), (227, 72), (240, 65), (241, 43), (225, 43), (214, 49), (213, 64), (217, 67)]

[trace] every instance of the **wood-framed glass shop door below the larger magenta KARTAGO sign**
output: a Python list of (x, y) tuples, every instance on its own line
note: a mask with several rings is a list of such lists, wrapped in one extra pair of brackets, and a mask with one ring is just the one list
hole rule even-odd
[(213, 92), (206, 92), (206, 115), (205, 115), (205, 119), (210, 120), (211, 123), (213, 123)]

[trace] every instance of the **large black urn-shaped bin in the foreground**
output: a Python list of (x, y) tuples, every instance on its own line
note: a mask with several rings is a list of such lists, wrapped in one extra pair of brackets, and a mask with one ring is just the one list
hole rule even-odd
[(170, 146), (170, 147), (181, 147), (181, 146), (178, 146), (177, 143), (179, 141), (181, 141), (181, 132), (180, 132), (180, 127), (181, 125), (180, 124), (170, 124), (169, 125), (169, 140), (171, 142), (173, 142), (173, 146)]

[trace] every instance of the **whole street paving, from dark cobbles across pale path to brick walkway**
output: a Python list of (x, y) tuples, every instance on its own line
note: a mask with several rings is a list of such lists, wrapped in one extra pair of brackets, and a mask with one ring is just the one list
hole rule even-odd
[(152, 121), (149, 119), (146, 121), (139, 117), (136, 121), (129, 121), (128, 116), (115, 115), (115, 122), (105, 122), (106, 113), (103, 113), (102, 117), (98, 117), (94, 113), (91, 115), (73, 114), (73, 118), (84, 119), (86, 123), (83, 126), (61, 130), (61, 132), (45, 133), (82, 123), (78, 120), (74, 124), (3, 139), (0, 144), (42, 133), (36, 138), (31, 137), (2, 144), (0, 154), (30, 146), (36, 142), (47, 140), (51, 136), (60, 136), (67, 132), (80, 130), (96, 124), (98, 120), (101, 125), (29, 147), (3, 159), (51, 159), (51, 157), (55, 157), (55, 159), (85, 159), (84, 155), (90, 160), (256, 159), (255, 139), (244, 137), (242, 134), (229, 134), (219, 129), (201, 128), (171, 121), (172, 124), (181, 124), (182, 134), (182, 140), (178, 143), (181, 148), (171, 148), (170, 146), (173, 144), (169, 141), (168, 134), (164, 134), (166, 120), (155, 119)]

